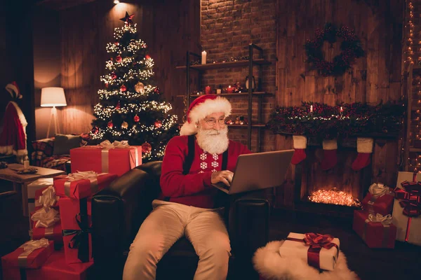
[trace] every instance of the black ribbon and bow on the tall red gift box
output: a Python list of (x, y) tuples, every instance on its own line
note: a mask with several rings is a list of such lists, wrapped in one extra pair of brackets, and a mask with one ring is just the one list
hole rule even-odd
[(79, 230), (62, 230), (63, 237), (74, 235), (68, 244), (71, 249), (78, 249), (77, 258), (81, 262), (89, 261), (89, 234), (92, 228), (88, 225), (88, 200), (82, 198), (80, 202), (80, 213), (74, 217), (79, 225)]

